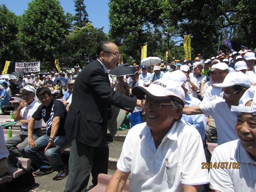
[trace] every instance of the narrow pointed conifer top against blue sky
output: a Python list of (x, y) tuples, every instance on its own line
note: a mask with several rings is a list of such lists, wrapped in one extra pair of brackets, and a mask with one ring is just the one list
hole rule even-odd
[(84, 27), (86, 23), (89, 22), (84, 0), (74, 0), (74, 3), (76, 11), (76, 14), (74, 15), (74, 25), (78, 27)]

